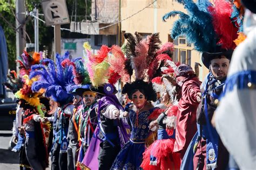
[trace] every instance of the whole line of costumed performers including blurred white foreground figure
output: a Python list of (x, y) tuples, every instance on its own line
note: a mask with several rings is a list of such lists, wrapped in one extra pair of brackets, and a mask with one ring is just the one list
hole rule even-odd
[(172, 37), (185, 35), (201, 52), (203, 82), (172, 61), (174, 45), (161, 45), (158, 33), (125, 33), (122, 48), (96, 54), (85, 42), (73, 60), (21, 55), (19, 75), (6, 83), (18, 99), (21, 169), (45, 169), (49, 153), (53, 170), (255, 168), (255, 2), (244, 1), (248, 37), (234, 54), (245, 37), (239, 2), (180, 3), (187, 14), (164, 20), (180, 15)]

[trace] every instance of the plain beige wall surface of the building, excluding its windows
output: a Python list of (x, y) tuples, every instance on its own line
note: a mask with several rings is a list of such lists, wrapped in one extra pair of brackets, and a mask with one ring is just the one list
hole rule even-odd
[[(152, 3), (153, 0), (121, 0), (121, 19), (127, 18), (133, 13), (138, 12), (145, 8), (145, 6)], [(156, 6), (156, 8), (154, 8)], [(178, 4), (173, 0), (158, 0), (156, 5), (152, 4), (149, 8), (144, 9), (137, 15), (126, 19), (122, 22), (122, 31), (125, 32), (139, 32), (139, 33), (154, 33), (159, 32), (160, 40), (162, 43), (168, 41), (170, 34), (170, 29), (173, 22), (177, 18), (168, 19), (167, 22), (163, 22), (162, 17), (165, 13), (172, 10), (179, 10), (185, 12), (183, 5)], [(192, 49), (193, 47), (185, 47), (186, 49)], [(194, 68), (194, 62), (201, 62), (200, 55), (197, 51), (192, 51), (191, 53), (191, 66)], [(200, 80), (203, 80), (204, 76), (207, 74), (208, 70), (203, 66), (199, 68)]]

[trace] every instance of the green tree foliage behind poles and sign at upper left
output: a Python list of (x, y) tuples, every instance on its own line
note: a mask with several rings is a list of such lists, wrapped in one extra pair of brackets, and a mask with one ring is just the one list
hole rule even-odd
[[(18, 0), (16, 0), (18, 1)], [(34, 4), (41, 3), (41, 0), (26, 0), (26, 11), (29, 13), (33, 11)], [(68, 6), (68, 12), (70, 20), (80, 22), (82, 20), (90, 19), (91, 13), (91, 0), (66, 0)], [(43, 13), (42, 6), (38, 7), (39, 13)], [(41, 19), (44, 18), (41, 16)], [(34, 24), (33, 17), (28, 17), (26, 23), (26, 42), (34, 42)], [(15, 0), (0, 0), (0, 24), (3, 27), (6, 43), (8, 47), (8, 62), (10, 70), (16, 69), (16, 30), (15, 30)], [(65, 24), (62, 27), (69, 29), (70, 25)], [(84, 37), (83, 34), (71, 33), (69, 31), (62, 31), (62, 37)], [(86, 37), (86, 36), (85, 36)], [(46, 26), (43, 22), (39, 21), (39, 51), (43, 51), (45, 48), (48, 51), (52, 50), (52, 42), (54, 38), (54, 30), (51, 26)]]

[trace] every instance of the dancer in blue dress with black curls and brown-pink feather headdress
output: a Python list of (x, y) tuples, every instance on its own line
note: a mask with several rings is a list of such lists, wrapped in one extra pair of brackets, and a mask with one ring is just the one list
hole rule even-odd
[[(131, 138), (118, 153), (111, 169), (139, 169), (142, 164), (143, 152), (145, 151), (146, 138), (150, 134), (149, 116), (154, 107), (150, 101), (156, 100), (151, 80), (160, 74), (159, 65), (165, 59), (170, 59), (167, 54), (157, 55), (160, 48), (159, 34), (152, 34), (143, 39), (135, 33), (136, 38), (130, 33), (124, 34), (126, 44), (126, 72), (130, 75), (135, 73), (136, 80), (126, 83), (122, 93), (127, 93), (133, 102), (126, 106), (121, 117), (129, 117), (131, 122)], [(144, 81), (144, 79), (146, 81)]]

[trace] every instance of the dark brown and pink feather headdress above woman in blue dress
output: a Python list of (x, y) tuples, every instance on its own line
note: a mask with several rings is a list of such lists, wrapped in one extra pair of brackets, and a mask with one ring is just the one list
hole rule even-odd
[(131, 33), (125, 33), (127, 39), (125, 54), (125, 70), (130, 76), (135, 73), (138, 80), (151, 80), (160, 76), (160, 67), (164, 65), (166, 60), (171, 60), (170, 56), (163, 54), (165, 49), (160, 50), (159, 34), (154, 33), (147, 38), (142, 38), (140, 34), (135, 33), (135, 37)]

